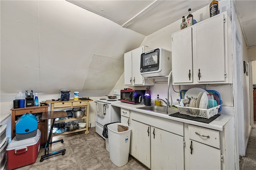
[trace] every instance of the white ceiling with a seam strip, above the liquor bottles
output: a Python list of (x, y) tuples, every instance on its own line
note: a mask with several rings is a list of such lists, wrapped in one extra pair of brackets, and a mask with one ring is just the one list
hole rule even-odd
[[(142, 35), (180, 20), (212, 0), (68, 0)], [(220, 1), (220, 0), (219, 0)], [(237, 13), (249, 47), (256, 46), (256, 0), (235, 0)]]

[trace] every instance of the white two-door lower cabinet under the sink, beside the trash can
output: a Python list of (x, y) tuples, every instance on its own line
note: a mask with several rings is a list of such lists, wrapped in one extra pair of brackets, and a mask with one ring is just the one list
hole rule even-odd
[(184, 169), (183, 123), (130, 113), (131, 155), (152, 170)]

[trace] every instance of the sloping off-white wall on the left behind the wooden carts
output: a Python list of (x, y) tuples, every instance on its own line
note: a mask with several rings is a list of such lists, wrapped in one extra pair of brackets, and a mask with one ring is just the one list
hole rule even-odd
[[(70, 98), (74, 91), (93, 100), (109, 95), (123, 68), (118, 76), (114, 69), (108, 74), (113, 85), (107, 90), (82, 90), (84, 84), (101, 89), (108, 85), (100, 79), (104, 72), (91, 67), (93, 56), (123, 59), (145, 37), (66, 0), (0, 1), (0, 12), (0, 114), (11, 113), (19, 91), (33, 90), (39, 101), (60, 98), (60, 89), (71, 90)], [(97, 84), (90, 84), (89, 76)], [(95, 121), (95, 113), (90, 102), (89, 121)]]

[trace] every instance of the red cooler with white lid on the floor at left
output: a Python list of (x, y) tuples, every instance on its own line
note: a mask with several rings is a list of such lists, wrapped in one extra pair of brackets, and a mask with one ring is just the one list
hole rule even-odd
[(36, 162), (40, 141), (41, 131), (39, 129), (35, 137), (20, 141), (14, 137), (6, 149), (7, 169), (12, 170)]

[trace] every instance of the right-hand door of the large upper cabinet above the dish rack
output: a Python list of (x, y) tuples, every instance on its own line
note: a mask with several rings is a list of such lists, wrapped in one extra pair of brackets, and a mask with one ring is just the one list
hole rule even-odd
[[(197, 82), (225, 81), (224, 14), (195, 25)], [(198, 76), (200, 69), (200, 78)]]

